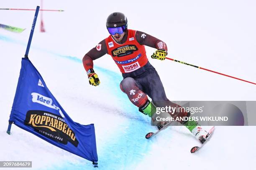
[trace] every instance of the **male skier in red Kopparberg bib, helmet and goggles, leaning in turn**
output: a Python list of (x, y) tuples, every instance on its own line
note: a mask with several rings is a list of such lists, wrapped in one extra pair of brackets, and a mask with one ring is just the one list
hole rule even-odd
[[(151, 58), (164, 60), (167, 55), (166, 43), (145, 32), (128, 29), (128, 21), (123, 13), (111, 13), (106, 26), (110, 35), (83, 57), (90, 85), (100, 85), (99, 77), (93, 70), (93, 60), (109, 54), (123, 75), (120, 89), (127, 94), (140, 112), (153, 117), (156, 110), (154, 105), (181, 107), (167, 99), (160, 77), (146, 56), (144, 45), (157, 49)], [(148, 100), (147, 95), (151, 97), (154, 105)], [(190, 116), (186, 111), (169, 114), (174, 118)], [(196, 121), (180, 123), (185, 125), (201, 143), (205, 142), (207, 132), (202, 130)], [(159, 129), (162, 127), (162, 124), (158, 125)]]

